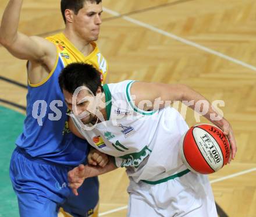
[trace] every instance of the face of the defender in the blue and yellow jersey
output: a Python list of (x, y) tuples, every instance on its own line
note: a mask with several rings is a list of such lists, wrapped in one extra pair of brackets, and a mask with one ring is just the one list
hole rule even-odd
[(84, 7), (74, 15), (73, 27), (76, 34), (87, 42), (98, 40), (101, 25), (101, 3), (84, 2)]

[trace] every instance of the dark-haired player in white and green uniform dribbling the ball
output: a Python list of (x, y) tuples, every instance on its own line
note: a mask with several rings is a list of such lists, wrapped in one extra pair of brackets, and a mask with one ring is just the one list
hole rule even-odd
[[(181, 84), (126, 80), (102, 88), (97, 70), (84, 63), (63, 69), (59, 84), (73, 111), (79, 131), (72, 129), (74, 133), (113, 156), (103, 169), (80, 165), (69, 172), (76, 195), (85, 178), (125, 167), (128, 216), (218, 216), (208, 177), (188, 170), (178, 154), (179, 140), (189, 127), (179, 112), (156, 100), (194, 100), (195, 105), (207, 99)], [(211, 106), (204, 116), (227, 135), (234, 159), (236, 141), (229, 122)]]

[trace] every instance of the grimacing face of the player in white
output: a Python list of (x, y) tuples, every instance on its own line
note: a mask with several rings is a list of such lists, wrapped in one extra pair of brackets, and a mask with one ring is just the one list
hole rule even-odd
[[(88, 90), (81, 90), (77, 97), (63, 90), (67, 108), (69, 108), (74, 115), (82, 115), (81, 122), (88, 124), (93, 122), (97, 112), (97, 105), (95, 105), (95, 96), (89, 93)], [(72, 101), (73, 100), (73, 101)]]

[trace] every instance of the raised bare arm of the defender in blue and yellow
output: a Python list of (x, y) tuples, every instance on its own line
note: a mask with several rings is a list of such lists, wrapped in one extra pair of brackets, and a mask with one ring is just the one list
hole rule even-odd
[(0, 43), (19, 59), (54, 65), (56, 48), (41, 37), (29, 37), (17, 31), (23, 0), (10, 0), (2, 16)]

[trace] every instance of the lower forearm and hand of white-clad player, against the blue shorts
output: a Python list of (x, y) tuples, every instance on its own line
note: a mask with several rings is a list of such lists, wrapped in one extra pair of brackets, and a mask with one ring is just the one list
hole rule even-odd
[(113, 159), (111, 158), (108, 164), (101, 168), (99, 166), (89, 166), (80, 164), (76, 168), (69, 171), (67, 174), (69, 180), (69, 187), (72, 189), (75, 195), (78, 195), (77, 189), (83, 184), (84, 179), (102, 175), (116, 169)]

